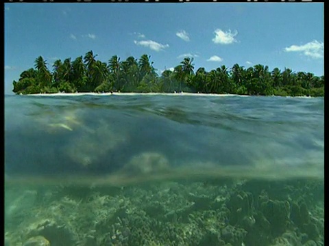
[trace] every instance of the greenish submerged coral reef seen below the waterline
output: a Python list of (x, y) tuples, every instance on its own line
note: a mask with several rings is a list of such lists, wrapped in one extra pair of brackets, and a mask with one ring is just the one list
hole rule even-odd
[(323, 181), (226, 181), (7, 187), (5, 245), (324, 245)]

